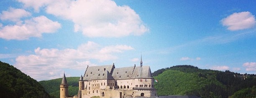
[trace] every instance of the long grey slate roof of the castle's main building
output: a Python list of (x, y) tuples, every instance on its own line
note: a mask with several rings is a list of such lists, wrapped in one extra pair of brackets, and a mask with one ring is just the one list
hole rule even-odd
[(83, 80), (125, 80), (133, 78), (153, 78), (149, 66), (115, 68), (115, 65), (87, 67)]

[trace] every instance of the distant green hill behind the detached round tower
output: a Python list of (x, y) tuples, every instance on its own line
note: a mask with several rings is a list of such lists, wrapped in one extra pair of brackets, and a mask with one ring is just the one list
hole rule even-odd
[[(69, 95), (77, 95), (78, 93), (78, 80), (80, 77), (67, 77), (67, 82), (69, 85)], [(54, 98), (59, 98), (60, 88), (62, 78), (53, 79), (53, 80), (42, 80), (39, 83), (44, 87), (44, 89)]]

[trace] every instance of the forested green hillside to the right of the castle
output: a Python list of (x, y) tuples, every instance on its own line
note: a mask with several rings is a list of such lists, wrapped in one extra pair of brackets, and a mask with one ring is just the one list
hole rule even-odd
[[(153, 73), (158, 95), (197, 95), (202, 98), (256, 97), (255, 75), (243, 75), (229, 70), (202, 70), (191, 65), (177, 65)], [(244, 94), (242, 94), (244, 93)], [(243, 95), (244, 97), (236, 97)]]

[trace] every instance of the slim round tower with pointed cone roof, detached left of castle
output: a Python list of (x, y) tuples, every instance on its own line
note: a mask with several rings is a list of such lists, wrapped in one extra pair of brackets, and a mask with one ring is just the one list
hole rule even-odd
[(60, 98), (66, 98), (69, 95), (69, 85), (67, 84), (67, 79), (65, 73), (63, 75), (61, 84), (60, 84)]

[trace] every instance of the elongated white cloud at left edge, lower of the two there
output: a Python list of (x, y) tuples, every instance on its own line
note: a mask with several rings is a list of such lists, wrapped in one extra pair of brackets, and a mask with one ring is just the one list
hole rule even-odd
[(7, 40), (25, 40), (30, 37), (41, 37), (42, 33), (54, 33), (61, 28), (61, 24), (49, 20), (45, 16), (38, 16), (25, 20), (21, 25), (6, 25), (0, 28), (0, 38)]

